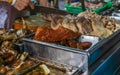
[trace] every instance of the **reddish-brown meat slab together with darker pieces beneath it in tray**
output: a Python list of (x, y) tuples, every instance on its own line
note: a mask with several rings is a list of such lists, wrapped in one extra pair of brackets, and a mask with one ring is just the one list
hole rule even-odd
[(88, 49), (92, 45), (92, 43), (82, 43), (78, 40), (75, 40), (79, 36), (80, 33), (75, 33), (72, 30), (69, 30), (62, 26), (58, 27), (58, 29), (56, 30), (53, 30), (49, 27), (39, 27), (37, 29), (34, 39), (43, 42), (56, 43), (72, 48), (78, 48), (81, 50)]

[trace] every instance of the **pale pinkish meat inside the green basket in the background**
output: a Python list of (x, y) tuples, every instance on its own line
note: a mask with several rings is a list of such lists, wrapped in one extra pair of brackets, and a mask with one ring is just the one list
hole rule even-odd
[[(85, 1), (85, 7), (89, 8), (89, 9), (97, 9), (97, 8), (100, 8), (103, 6), (104, 3), (93, 3), (93, 2), (88, 2), (88, 1)], [(70, 4), (71, 6), (73, 7), (80, 7), (82, 6), (80, 2), (74, 2), (74, 3), (71, 3)]]

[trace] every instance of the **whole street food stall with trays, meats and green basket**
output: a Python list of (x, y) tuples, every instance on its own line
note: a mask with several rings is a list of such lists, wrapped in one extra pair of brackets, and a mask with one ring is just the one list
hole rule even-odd
[(82, 3), (21, 12), (14, 29), (0, 32), (0, 74), (119, 75), (118, 4)]

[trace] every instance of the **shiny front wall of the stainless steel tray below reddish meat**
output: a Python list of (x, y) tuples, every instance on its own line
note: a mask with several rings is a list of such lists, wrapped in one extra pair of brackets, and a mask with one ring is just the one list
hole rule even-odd
[(27, 52), (36, 55), (39, 58), (44, 58), (48, 61), (51, 60), (52, 62), (56, 62), (64, 66), (69, 65), (72, 66), (72, 68), (75, 68), (69, 73), (69, 75), (74, 74), (74, 72), (78, 70), (82, 72), (87, 71), (88, 55), (86, 52), (77, 51), (74, 48), (71, 49), (61, 45), (38, 42), (30, 39), (24, 39), (24, 46), (24, 49)]

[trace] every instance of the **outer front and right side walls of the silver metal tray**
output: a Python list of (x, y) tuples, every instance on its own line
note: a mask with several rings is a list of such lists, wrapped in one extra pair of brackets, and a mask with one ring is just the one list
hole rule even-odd
[(101, 40), (88, 50), (79, 50), (53, 43), (46, 43), (24, 38), (24, 48), (38, 57), (79, 67), (79, 71), (87, 72), (88, 66), (94, 64), (103, 54), (113, 47), (120, 39), (120, 30), (110, 37)]

